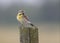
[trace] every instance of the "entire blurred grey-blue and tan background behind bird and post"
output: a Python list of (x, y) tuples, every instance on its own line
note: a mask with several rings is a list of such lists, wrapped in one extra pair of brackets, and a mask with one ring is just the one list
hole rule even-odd
[(18, 10), (39, 28), (39, 43), (59, 43), (59, 0), (0, 0), (0, 43), (19, 43)]

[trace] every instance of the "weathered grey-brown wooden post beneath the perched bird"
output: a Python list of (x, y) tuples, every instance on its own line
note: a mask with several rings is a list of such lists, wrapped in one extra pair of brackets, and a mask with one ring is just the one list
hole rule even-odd
[(20, 43), (38, 43), (38, 28), (20, 27)]

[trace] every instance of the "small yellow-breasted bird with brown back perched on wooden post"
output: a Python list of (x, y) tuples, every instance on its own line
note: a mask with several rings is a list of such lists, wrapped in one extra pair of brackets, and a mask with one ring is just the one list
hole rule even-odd
[(17, 14), (17, 20), (24, 25), (25, 23), (30, 24), (31, 26), (34, 26), (28, 19), (28, 17), (24, 14), (23, 10), (19, 10)]

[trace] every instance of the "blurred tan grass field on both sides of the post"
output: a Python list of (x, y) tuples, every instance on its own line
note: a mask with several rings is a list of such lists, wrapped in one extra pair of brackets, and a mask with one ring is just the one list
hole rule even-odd
[[(39, 43), (59, 43), (60, 32), (58, 29), (59, 25), (40, 24)], [(19, 37), (18, 26), (0, 26), (0, 43), (19, 43)]]

